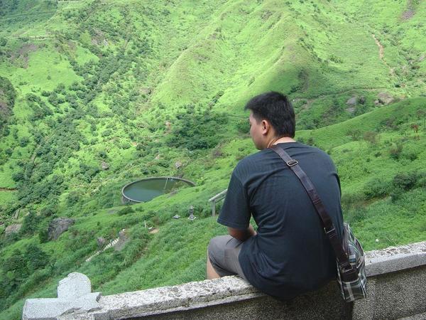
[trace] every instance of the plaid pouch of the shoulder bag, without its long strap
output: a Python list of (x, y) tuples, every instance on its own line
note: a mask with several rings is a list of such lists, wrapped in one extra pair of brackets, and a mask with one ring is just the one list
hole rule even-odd
[(361, 243), (355, 238), (348, 223), (344, 223), (343, 227), (342, 245), (350, 266), (337, 260), (337, 282), (344, 301), (353, 302), (366, 297), (366, 265)]

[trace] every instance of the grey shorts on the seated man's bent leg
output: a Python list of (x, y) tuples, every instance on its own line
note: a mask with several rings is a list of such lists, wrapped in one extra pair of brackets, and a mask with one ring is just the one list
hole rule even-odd
[(241, 278), (246, 279), (238, 260), (243, 243), (231, 235), (219, 235), (210, 240), (207, 248), (209, 260), (219, 276), (238, 274)]

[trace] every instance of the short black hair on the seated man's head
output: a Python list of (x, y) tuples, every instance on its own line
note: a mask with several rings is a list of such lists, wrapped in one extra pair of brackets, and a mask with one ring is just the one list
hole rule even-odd
[(266, 92), (251, 98), (244, 110), (251, 110), (257, 122), (268, 120), (278, 137), (295, 137), (295, 110), (287, 96), (280, 92)]

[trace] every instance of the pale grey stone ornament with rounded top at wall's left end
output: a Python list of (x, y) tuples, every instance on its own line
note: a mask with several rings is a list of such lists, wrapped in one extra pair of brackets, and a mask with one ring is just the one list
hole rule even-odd
[(23, 320), (51, 320), (63, 314), (101, 309), (100, 292), (93, 292), (89, 278), (79, 272), (68, 274), (58, 284), (58, 298), (27, 299)]

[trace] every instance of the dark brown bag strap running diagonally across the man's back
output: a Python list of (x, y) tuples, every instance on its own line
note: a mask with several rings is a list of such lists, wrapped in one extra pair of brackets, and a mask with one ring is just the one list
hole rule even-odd
[[(344, 270), (347, 270), (349, 273), (355, 272), (351, 264), (349, 263), (348, 255), (344, 251), (344, 248), (342, 246), (342, 243), (339, 240), (339, 237), (337, 236), (337, 230), (334, 228), (332, 219), (330, 218), (329, 214), (327, 213), (327, 210), (325, 210), (324, 205), (322, 204), (321, 198), (317, 193), (317, 189), (310, 181), (310, 178), (307, 177), (305, 174), (305, 171), (300, 168), (297, 160), (292, 159), (287, 152), (284, 151), (280, 146), (273, 145), (271, 148), (273, 151), (275, 151), (281, 159), (284, 160), (285, 164), (288, 165), (288, 167), (295, 173), (297, 178), (299, 178), (302, 185), (305, 187), (305, 190), (310, 197), (312, 203), (315, 206), (315, 209), (320, 216), (320, 219), (322, 221), (322, 227), (324, 228), (325, 234), (328, 236), (330, 242), (332, 243), (332, 247), (334, 250), (334, 253), (336, 254), (337, 260), (339, 261), (339, 265), (344, 268)], [(356, 275), (356, 272), (355, 274)]]

